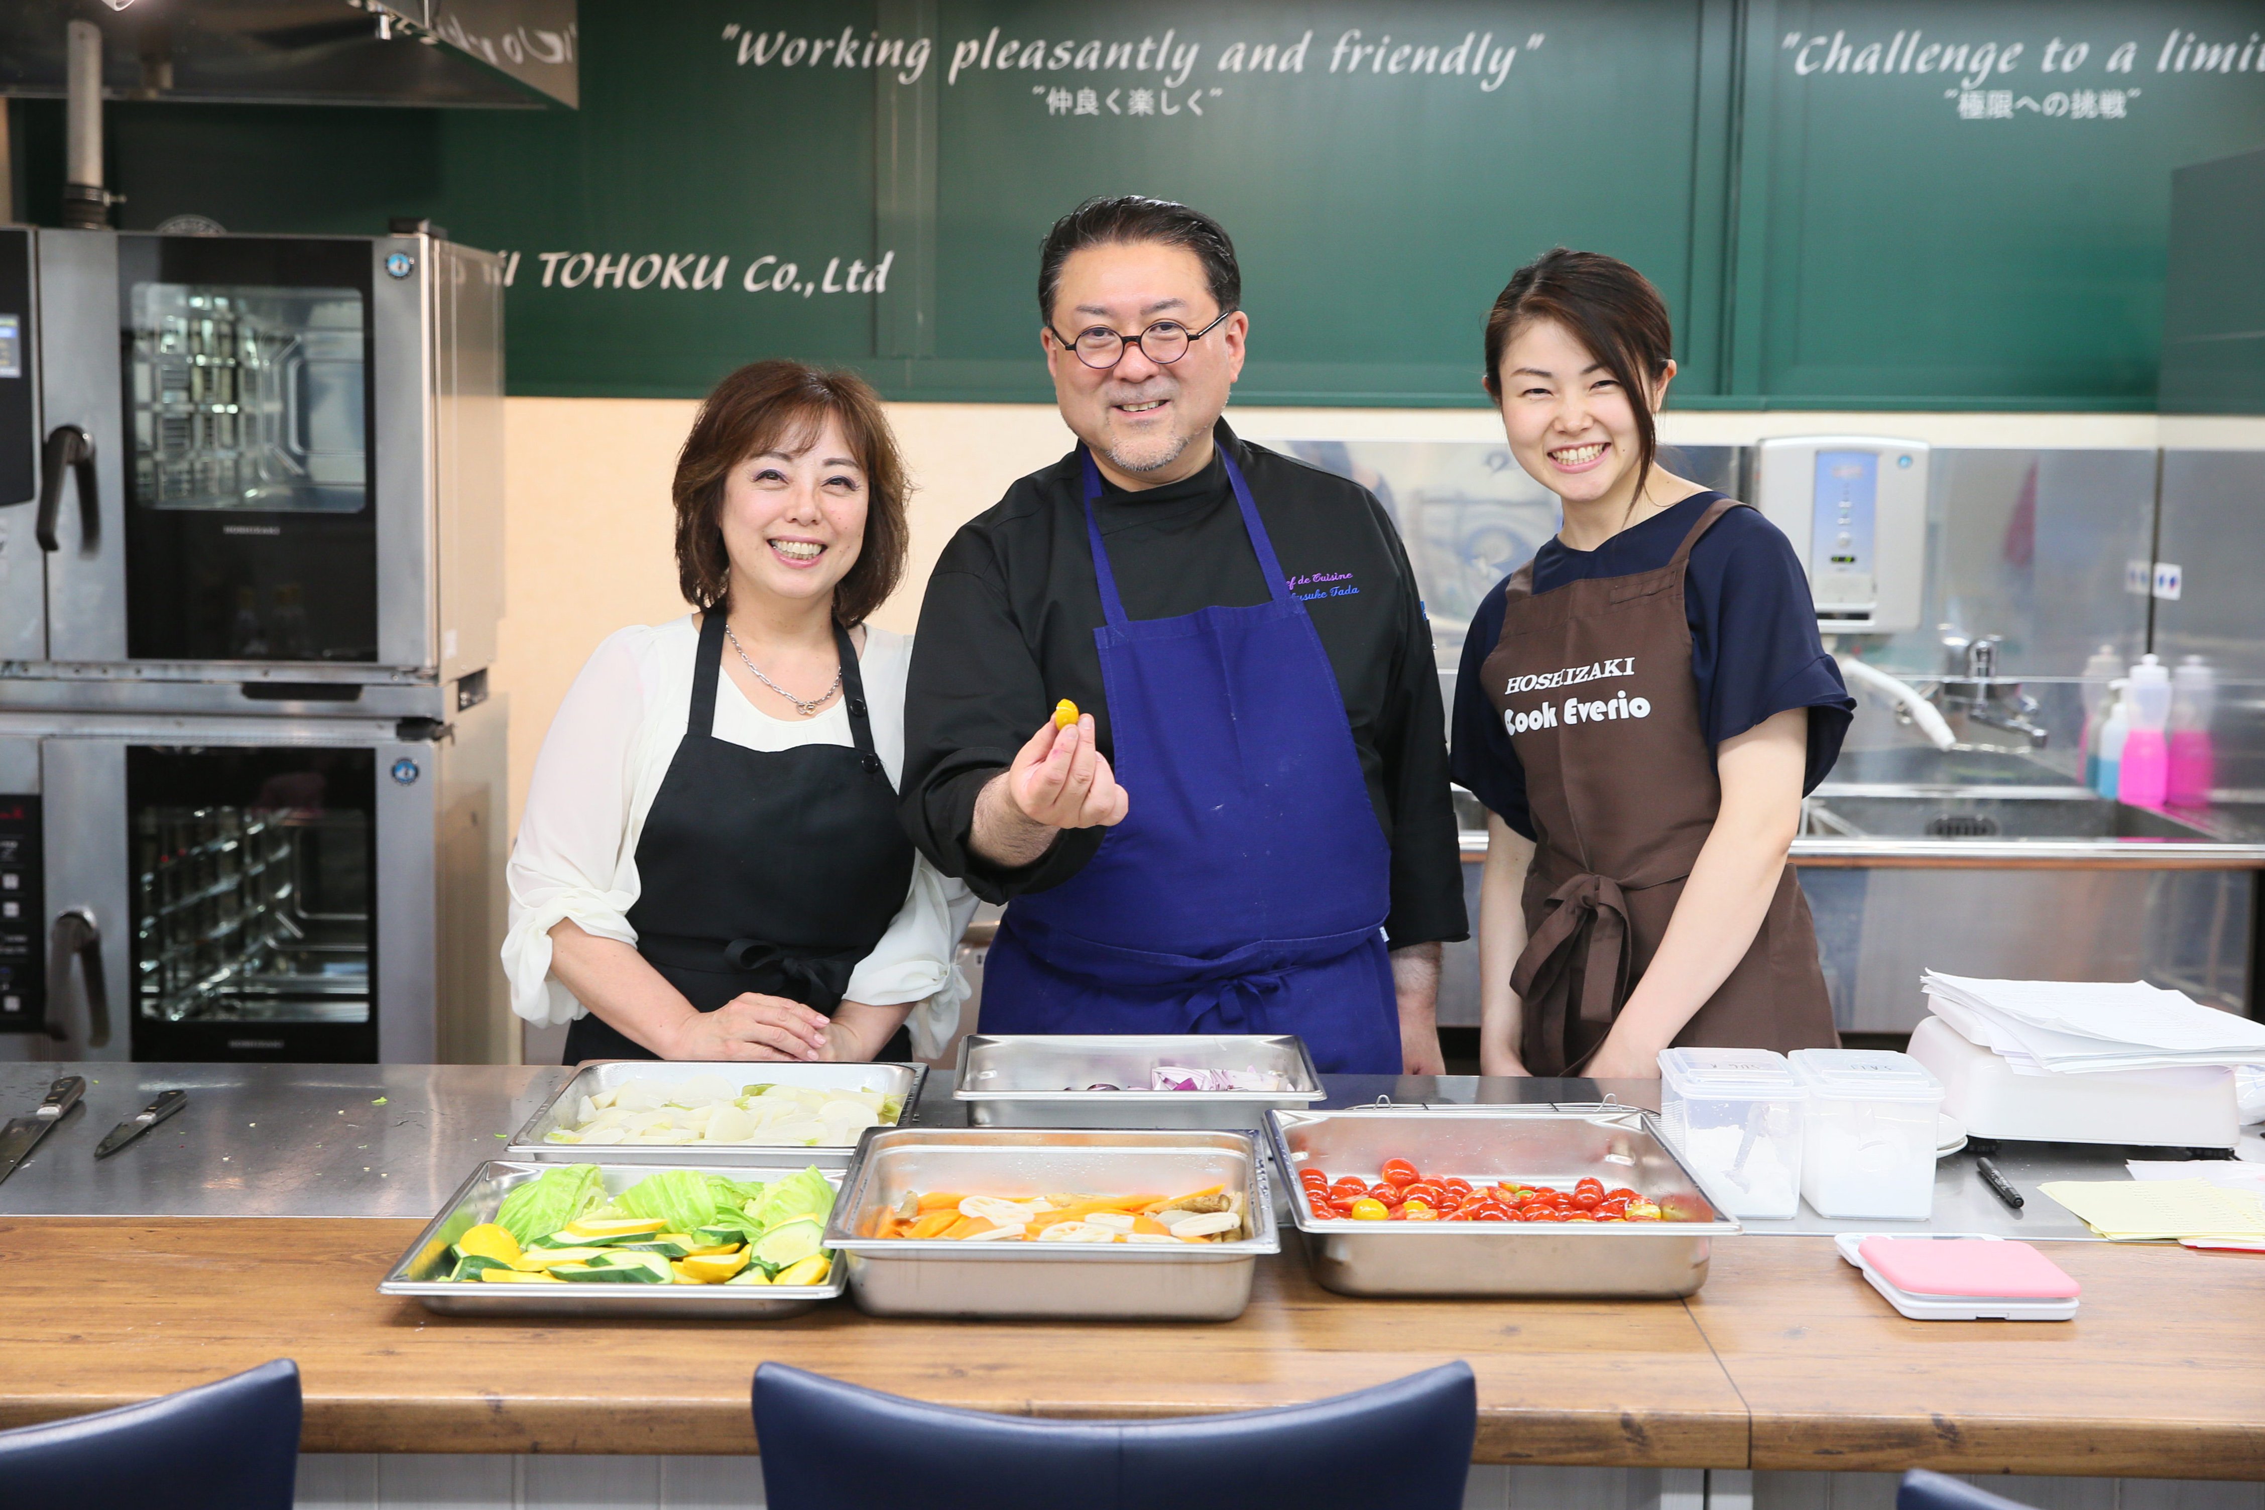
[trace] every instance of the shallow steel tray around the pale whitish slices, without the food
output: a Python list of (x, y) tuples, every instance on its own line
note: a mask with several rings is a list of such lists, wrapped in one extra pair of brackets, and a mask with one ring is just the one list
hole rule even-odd
[[(849, 1168), (856, 1143), (822, 1143), (818, 1148), (779, 1146), (734, 1146), (734, 1143), (546, 1143), (544, 1139), (564, 1121), (562, 1107), (573, 1107), (578, 1098), (607, 1091), (625, 1080), (691, 1080), (693, 1075), (723, 1075), (732, 1084), (802, 1084), (815, 1091), (886, 1091), (904, 1096), (901, 1123), (911, 1123), (920, 1107), (920, 1087), (929, 1080), (926, 1064), (795, 1064), (793, 1059), (725, 1059), (682, 1062), (666, 1059), (600, 1059), (584, 1064), (537, 1107), (512, 1141), (503, 1146), (505, 1159), (541, 1159), (548, 1164), (713, 1164), (716, 1168), (775, 1168), (781, 1161), (800, 1159), (795, 1168), (815, 1164), (818, 1168)], [(899, 1125), (901, 1125), (899, 1123)]]

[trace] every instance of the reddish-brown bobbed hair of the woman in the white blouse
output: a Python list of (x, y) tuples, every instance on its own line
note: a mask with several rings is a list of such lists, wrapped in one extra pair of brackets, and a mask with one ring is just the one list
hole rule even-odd
[(723, 491), (732, 469), (766, 451), (815, 444), (827, 417), (865, 469), (865, 546), (834, 584), (834, 618), (856, 625), (872, 616), (904, 577), (911, 527), (904, 521), (904, 460), (881, 414), (881, 396), (847, 371), (806, 362), (747, 362), (700, 405), (677, 453), (670, 498), (677, 505), (677, 589), (695, 609), (729, 611), (732, 557), (723, 548)]

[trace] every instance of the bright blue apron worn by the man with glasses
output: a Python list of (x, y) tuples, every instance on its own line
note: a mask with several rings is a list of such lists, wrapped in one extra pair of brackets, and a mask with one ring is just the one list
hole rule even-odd
[(1268, 602), (1126, 618), (1085, 460), (1094, 629), (1126, 822), (1017, 896), (983, 962), (983, 1032), (1296, 1032), (1330, 1073), (1398, 1075), (1391, 847), (1345, 700), (1234, 457)]

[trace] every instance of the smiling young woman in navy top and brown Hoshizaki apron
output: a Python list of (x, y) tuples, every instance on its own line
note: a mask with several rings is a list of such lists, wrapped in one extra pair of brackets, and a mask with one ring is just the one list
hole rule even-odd
[(1828, 1048), (1787, 851), (1855, 702), (1792, 546), (1665, 471), (1667, 306), (1552, 251), (1486, 321), (1486, 389), (1563, 527), (1472, 616), (1454, 779), (1488, 806), (1481, 1066), (1656, 1078), (1669, 1044)]

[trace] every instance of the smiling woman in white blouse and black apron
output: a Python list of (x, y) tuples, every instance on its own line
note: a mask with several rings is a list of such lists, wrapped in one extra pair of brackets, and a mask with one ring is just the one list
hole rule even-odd
[(580, 1059), (933, 1057), (974, 910), (897, 822), (904, 466), (847, 374), (754, 362), (677, 457), (700, 611), (591, 654), (512, 849), (512, 1007)]

